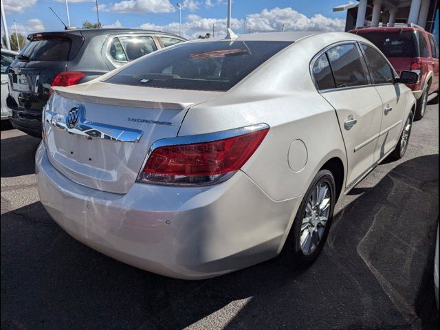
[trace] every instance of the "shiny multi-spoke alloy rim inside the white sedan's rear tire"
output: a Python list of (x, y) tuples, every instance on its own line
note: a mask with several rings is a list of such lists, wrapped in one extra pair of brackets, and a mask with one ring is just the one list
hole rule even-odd
[(307, 201), (300, 230), (301, 251), (313, 253), (324, 235), (331, 210), (331, 189), (326, 182), (318, 182)]

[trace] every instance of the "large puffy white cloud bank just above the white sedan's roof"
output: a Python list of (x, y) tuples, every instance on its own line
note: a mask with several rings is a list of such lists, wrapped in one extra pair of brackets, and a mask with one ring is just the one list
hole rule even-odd
[(307, 17), (292, 8), (263, 9), (258, 14), (248, 15), (247, 27), (250, 32), (281, 31), (343, 31), (343, 19), (331, 19), (316, 14)]

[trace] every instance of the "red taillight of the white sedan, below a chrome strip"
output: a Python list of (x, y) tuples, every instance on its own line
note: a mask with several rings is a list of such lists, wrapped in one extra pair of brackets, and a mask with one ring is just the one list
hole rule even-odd
[[(173, 145), (156, 148), (153, 145), (139, 181), (184, 186), (224, 181), (248, 161), (268, 131), (269, 126), (259, 124), (206, 135), (217, 137), (231, 135), (232, 132), (239, 134), (219, 140), (185, 143), (188, 137), (175, 137)], [(195, 140), (203, 140), (203, 135), (195, 137)], [(178, 139), (184, 144), (179, 144)]]

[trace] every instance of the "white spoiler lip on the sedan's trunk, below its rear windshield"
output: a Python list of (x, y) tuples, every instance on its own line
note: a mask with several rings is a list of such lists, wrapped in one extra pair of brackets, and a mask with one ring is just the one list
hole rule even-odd
[(189, 91), (116, 85), (92, 81), (71, 87), (52, 87), (55, 94), (71, 100), (120, 107), (181, 110), (223, 94), (221, 91)]

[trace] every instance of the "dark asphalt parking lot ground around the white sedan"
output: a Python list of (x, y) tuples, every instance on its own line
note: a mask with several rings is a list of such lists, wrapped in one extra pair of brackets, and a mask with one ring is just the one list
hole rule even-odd
[(338, 204), (308, 270), (282, 258), (205, 281), (137, 270), (78, 243), (41, 206), (39, 140), (2, 124), (1, 329), (438, 329), (432, 282), (439, 113)]

